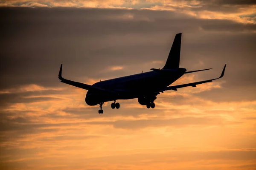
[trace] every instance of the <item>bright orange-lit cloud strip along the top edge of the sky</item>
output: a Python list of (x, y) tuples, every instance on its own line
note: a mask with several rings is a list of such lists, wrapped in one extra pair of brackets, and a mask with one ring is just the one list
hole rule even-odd
[[(10, 0), (0, 6), (23, 7), (76, 7), (76, 8), (127, 8), (177, 11), (202, 19), (233, 20), (240, 23), (256, 23), (256, 4), (228, 2), (225, 0)], [(148, 7), (149, 6), (149, 7)], [(131, 19), (131, 16), (128, 17)], [(133, 18), (133, 17), (132, 17)]]

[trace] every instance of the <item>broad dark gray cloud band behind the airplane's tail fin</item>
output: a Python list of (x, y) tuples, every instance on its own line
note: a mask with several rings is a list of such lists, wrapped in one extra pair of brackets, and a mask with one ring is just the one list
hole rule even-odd
[[(148, 66), (133, 65), (165, 62), (177, 32), (183, 32), (181, 66), (197, 69), (202, 61), (205, 67), (219, 68), (203, 74), (205, 78), (227, 63), (228, 85), (236, 85), (237, 79), (255, 85), (255, 24), (150, 10), (1, 8), (0, 13), (6, 16), (0, 20), (2, 89), (31, 83), (64, 87), (57, 78), (61, 63), (64, 76), (76, 81), (148, 71)], [(134, 19), (125, 18), (128, 14)], [(106, 71), (112, 65), (128, 67)]]

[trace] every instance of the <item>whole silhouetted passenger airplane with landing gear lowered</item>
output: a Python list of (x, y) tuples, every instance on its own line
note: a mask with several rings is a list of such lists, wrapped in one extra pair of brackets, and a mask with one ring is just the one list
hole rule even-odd
[(120, 104), (116, 102), (116, 100), (120, 99), (137, 98), (140, 105), (145, 105), (147, 108), (155, 108), (154, 100), (157, 99), (157, 95), (160, 94), (160, 92), (163, 93), (164, 91), (168, 90), (177, 91), (178, 88), (188, 86), (196, 87), (196, 85), (212, 82), (213, 80), (220, 79), (224, 76), (226, 65), (223, 68), (221, 76), (218, 78), (169, 86), (184, 74), (212, 69), (208, 68), (203, 70), (186, 71), (186, 68), (179, 67), (181, 34), (182, 33), (176, 34), (166, 64), (162, 69), (151, 68), (151, 71), (149, 72), (108, 79), (105, 81), (96, 82), (93, 85), (87, 85), (81, 82), (74, 82), (64, 79), (61, 76), (61, 64), (58, 78), (61, 80), (61, 82), (68, 85), (73, 85), (75, 87), (88, 90), (85, 97), (85, 102), (90, 106), (100, 105), (98, 113), (103, 113), (102, 105), (104, 102), (113, 101), (113, 103), (111, 103), (111, 108), (119, 109)]

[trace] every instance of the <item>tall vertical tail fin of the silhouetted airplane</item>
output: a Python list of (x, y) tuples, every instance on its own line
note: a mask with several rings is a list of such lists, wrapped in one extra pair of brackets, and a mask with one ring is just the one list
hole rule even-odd
[(176, 34), (175, 39), (172, 43), (172, 48), (167, 58), (166, 64), (162, 69), (171, 69), (180, 67), (180, 44), (181, 44), (181, 33)]

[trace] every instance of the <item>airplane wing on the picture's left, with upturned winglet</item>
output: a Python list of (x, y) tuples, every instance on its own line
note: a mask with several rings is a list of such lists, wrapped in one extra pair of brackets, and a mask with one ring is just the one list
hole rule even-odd
[(84, 83), (81, 83), (81, 82), (74, 82), (74, 81), (71, 81), (71, 80), (68, 80), (68, 79), (64, 79), (61, 74), (62, 74), (62, 64), (61, 64), (61, 68), (60, 68), (60, 71), (59, 71), (59, 74), (58, 74), (58, 78), (61, 80), (61, 82), (66, 83), (68, 85), (73, 85), (73, 86), (78, 87), (78, 88), (83, 88), (85, 90), (92, 90), (92, 91), (98, 91), (98, 92), (103, 92), (103, 93), (118, 94), (116, 91), (112, 91), (112, 90), (108, 90), (108, 89), (105, 89), (105, 88), (96, 87), (96, 86), (87, 85), (87, 84), (84, 84)]

